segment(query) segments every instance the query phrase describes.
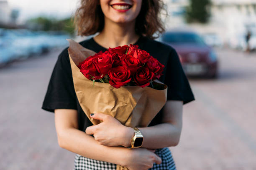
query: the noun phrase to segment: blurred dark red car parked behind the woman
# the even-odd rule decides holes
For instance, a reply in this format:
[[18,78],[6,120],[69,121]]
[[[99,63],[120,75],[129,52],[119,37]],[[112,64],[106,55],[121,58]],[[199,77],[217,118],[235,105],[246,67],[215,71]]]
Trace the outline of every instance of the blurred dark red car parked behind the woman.
[[217,77],[217,55],[197,33],[169,31],[161,35],[160,40],[177,51],[187,76]]

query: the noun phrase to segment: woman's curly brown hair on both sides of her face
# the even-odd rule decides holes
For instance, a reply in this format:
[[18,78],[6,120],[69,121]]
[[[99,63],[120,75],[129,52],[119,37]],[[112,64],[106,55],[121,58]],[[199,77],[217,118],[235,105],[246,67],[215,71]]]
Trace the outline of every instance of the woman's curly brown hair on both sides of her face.
[[[99,0],[80,0],[81,6],[74,16],[78,35],[93,35],[104,27],[104,14]],[[159,37],[165,31],[161,20],[161,11],[165,10],[162,0],[142,0],[141,11],[136,18],[135,31],[151,39]],[[156,36],[153,36],[153,35]]]

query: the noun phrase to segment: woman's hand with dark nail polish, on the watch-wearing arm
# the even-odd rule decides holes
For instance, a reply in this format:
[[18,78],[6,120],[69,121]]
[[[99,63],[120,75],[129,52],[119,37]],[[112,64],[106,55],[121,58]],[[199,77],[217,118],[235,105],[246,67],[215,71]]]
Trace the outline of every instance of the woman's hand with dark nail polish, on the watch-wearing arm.
[[91,117],[103,122],[87,127],[85,133],[93,135],[101,145],[128,147],[131,144],[133,128],[126,127],[115,117],[103,113],[95,113]]

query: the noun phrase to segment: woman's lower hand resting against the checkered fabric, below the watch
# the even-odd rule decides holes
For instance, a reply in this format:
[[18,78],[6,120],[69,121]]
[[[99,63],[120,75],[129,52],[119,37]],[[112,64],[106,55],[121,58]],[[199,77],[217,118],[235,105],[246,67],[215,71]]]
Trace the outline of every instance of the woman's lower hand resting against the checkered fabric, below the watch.
[[148,170],[154,163],[161,164],[161,158],[154,152],[155,150],[146,148],[129,149],[124,166],[129,170]]

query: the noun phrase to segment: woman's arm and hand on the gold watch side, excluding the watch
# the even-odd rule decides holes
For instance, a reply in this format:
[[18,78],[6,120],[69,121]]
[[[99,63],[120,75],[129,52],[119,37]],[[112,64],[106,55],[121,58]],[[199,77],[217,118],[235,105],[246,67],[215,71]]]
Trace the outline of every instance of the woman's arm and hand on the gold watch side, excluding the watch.
[[[159,125],[146,128],[138,128],[144,137],[142,148],[158,149],[176,146],[182,130],[183,101],[168,100],[164,106],[163,120]],[[122,125],[110,115],[96,113],[91,116],[102,120],[98,125],[87,127],[86,133],[94,135],[101,145],[125,147],[131,146],[131,138],[134,135],[133,128]]]

